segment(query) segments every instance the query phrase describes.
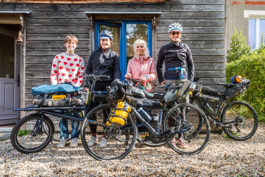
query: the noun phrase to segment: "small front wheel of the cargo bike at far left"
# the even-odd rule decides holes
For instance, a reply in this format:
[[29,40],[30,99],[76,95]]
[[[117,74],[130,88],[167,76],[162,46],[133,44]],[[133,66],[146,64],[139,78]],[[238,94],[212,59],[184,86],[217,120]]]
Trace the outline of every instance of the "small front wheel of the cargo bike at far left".
[[[54,125],[47,116],[44,116],[38,132],[34,135],[41,116],[41,114],[30,114],[15,124],[10,139],[12,146],[17,151],[26,154],[39,152],[51,142]],[[44,131],[44,127],[47,132]]]

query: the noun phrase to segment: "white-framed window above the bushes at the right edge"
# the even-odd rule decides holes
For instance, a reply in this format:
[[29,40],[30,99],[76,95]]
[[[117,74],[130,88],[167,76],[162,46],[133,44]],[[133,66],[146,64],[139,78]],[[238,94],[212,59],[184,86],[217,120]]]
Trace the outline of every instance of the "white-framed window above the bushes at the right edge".
[[259,48],[260,34],[265,32],[265,18],[249,18],[248,44],[251,49]]

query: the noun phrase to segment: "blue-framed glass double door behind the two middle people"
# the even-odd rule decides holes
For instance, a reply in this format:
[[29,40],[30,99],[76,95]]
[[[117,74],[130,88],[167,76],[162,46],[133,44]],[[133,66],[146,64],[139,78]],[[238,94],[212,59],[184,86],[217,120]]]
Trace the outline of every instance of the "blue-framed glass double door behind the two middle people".
[[[124,75],[127,70],[127,61],[132,58],[132,42],[134,42],[138,38],[142,38],[148,43],[148,49],[150,51],[150,56],[152,57],[152,26],[150,20],[98,20],[95,21],[95,50],[97,50],[99,45],[99,33],[103,27],[114,30],[115,34],[113,34],[113,41],[115,37],[119,37],[119,40],[115,41],[115,49],[112,50],[119,54],[120,57],[120,68],[121,68],[121,80],[124,79]],[[138,30],[138,31],[137,31]],[[137,35],[134,35],[134,32]],[[113,32],[112,32],[113,33]],[[116,34],[119,33],[119,34]],[[139,35],[139,33],[141,33]],[[147,37],[146,37],[147,34]],[[132,38],[133,36],[133,38]],[[143,38],[144,36],[144,38]],[[131,40],[130,40],[131,39]],[[134,41],[132,41],[135,39]],[[116,46],[116,45],[119,45]],[[130,51],[130,52],[129,52]],[[129,56],[130,53],[130,56]]]

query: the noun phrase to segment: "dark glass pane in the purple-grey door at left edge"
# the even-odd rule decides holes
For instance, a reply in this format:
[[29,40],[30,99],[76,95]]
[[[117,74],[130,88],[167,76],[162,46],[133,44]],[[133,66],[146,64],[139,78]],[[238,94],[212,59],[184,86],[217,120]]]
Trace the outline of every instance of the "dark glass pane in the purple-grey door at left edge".
[[0,77],[15,77],[15,37],[0,33]]

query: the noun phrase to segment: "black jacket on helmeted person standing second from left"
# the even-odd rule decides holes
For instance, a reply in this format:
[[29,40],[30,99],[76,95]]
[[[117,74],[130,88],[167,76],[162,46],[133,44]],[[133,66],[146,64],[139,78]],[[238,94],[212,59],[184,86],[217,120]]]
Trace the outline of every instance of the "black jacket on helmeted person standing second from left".
[[[111,82],[114,79],[120,79],[121,70],[118,54],[111,51],[110,48],[108,48],[105,52],[100,49],[92,51],[87,63],[86,74],[91,74],[94,71],[98,71],[95,75],[110,76],[109,79],[102,79],[102,82],[97,81],[96,84],[104,84],[106,82]],[[92,81],[89,80],[89,83],[91,84]]]

